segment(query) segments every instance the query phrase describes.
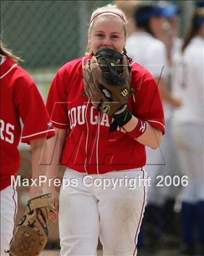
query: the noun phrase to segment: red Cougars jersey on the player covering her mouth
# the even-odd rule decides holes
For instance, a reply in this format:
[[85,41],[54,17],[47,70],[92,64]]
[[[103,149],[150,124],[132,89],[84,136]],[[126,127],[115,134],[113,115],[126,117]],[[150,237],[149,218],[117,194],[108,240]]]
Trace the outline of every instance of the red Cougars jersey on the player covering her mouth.
[[[83,68],[91,55],[66,63],[57,72],[48,93],[47,109],[55,127],[68,129],[61,164],[78,172],[106,173],[145,166],[145,146],[118,128],[109,132],[112,117],[97,111],[84,91]],[[163,106],[156,82],[137,63],[131,63],[128,108],[164,133]]]

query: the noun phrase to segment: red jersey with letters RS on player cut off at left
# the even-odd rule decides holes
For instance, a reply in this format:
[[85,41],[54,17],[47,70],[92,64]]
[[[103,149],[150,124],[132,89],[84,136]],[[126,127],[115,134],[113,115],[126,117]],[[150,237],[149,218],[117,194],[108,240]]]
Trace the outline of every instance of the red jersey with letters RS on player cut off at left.
[[[20,166],[18,143],[54,136],[43,99],[29,74],[9,58],[1,64],[1,190]],[[21,131],[20,118],[24,123]]]

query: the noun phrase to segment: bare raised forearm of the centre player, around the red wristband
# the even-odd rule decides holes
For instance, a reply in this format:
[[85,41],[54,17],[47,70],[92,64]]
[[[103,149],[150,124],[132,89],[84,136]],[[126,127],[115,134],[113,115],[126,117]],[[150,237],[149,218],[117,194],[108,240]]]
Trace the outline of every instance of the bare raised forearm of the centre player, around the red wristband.
[[[138,118],[133,116],[131,120],[126,125],[124,125],[123,128],[127,132],[131,132],[135,129],[137,124]],[[143,132],[143,134],[138,138],[135,138],[135,140],[145,146],[156,149],[161,144],[162,132],[159,129],[152,127],[148,122],[145,122],[145,124],[147,125],[145,132]]]

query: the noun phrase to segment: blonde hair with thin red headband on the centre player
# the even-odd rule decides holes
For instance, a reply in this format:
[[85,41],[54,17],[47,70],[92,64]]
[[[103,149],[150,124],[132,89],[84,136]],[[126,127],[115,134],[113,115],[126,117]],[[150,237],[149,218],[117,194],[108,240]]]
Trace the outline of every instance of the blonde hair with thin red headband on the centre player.
[[[101,17],[102,15],[103,15],[103,17],[114,17],[116,19],[122,20],[124,35],[125,35],[125,37],[127,37],[126,26],[127,26],[128,21],[126,19],[126,15],[124,15],[124,12],[122,12],[122,10],[117,8],[117,6],[115,4],[107,4],[106,6],[99,7],[96,10],[94,10],[94,12],[92,12],[91,22],[89,23],[88,35],[91,34],[91,29],[92,29],[94,22],[96,20],[98,20],[99,17]],[[126,53],[126,49],[123,49],[123,51]],[[90,45],[90,42],[88,42],[87,51],[85,52],[85,55],[88,55],[90,53],[91,53],[91,45]]]

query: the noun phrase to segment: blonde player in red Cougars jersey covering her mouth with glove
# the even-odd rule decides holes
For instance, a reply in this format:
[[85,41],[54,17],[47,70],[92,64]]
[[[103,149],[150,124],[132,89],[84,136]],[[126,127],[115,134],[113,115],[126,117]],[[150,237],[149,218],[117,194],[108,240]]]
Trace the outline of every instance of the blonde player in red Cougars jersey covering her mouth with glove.
[[[82,97],[86,61],[101,48],[125,51],[125,44],[126,18],[122,11],[111,4],[98,8],[92,13],[89,27],[90,54],[66,63],[48,93],[47,109],[57,131],[48,141],[48,148],[52,150],[57,143],[59,149],[52,157],[50,175],[55,177],[62,155],[61,164],[67,166],[64,179],[75,179],[75,184],[61,187],[59,197],[63,256],[96,255],[98,237],[103,255],[137,252],[147,193],[145,184],[138,181],[146,177],[145,145],[157,148],[164,133],[163,106],[156,83],[147,70],[130,63],[135,100],[129,98],[128,108],[133,117],[112,133],[112,118],[97,111],[88,97]],[[136,136],[138,128],[141,133]],[[135,180],[134,189],[129,180]]]

